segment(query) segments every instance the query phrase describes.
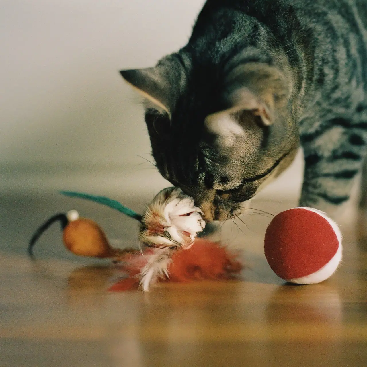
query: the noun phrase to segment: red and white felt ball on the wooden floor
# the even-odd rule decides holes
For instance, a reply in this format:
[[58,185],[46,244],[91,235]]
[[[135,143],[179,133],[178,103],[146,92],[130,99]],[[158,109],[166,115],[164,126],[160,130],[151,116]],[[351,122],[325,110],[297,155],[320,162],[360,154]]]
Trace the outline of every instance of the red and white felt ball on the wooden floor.
[[293,208],[270,222],[264,251],[270,268],[282,279],[319,283],[330,277],[341,261],[341,233],[323,212]]

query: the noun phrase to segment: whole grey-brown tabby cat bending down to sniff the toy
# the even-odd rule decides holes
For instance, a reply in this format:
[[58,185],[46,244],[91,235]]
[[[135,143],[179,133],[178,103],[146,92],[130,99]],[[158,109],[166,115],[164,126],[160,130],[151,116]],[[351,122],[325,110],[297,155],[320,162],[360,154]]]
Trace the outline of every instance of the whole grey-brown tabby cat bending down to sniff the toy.
[[366,0],[208,0],[188,44],[121,75],[161,175],[224,220],[305,155],[300,205],[348,200],[367,140]]

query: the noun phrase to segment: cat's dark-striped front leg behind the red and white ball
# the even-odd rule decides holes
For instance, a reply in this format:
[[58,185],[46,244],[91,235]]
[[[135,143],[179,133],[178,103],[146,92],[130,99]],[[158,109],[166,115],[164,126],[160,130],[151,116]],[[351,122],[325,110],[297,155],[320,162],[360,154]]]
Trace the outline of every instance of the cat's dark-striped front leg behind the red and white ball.
[[305,173],[300,205],[318,208],[331,217],[349,197],[360,172],[366,145],[366,126],[344,118],[301,135]]

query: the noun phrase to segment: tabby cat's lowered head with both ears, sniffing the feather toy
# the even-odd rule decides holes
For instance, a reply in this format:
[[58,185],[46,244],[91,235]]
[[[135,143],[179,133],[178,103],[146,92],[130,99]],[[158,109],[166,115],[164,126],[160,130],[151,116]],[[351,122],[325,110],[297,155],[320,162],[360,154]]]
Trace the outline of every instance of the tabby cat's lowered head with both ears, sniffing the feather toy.
[[146,97],[161,175],[195,199],[206,221],[232,217],[295,156],[291,83],[264,62],[200,64],[185,52],[121,75]]

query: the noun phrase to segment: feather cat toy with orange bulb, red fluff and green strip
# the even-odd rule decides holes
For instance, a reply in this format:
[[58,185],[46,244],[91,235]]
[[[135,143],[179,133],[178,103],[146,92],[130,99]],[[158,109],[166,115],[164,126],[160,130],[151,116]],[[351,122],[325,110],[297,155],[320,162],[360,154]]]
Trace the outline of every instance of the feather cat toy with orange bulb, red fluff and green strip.
[[120,211],[140,222],[140,249],[112,248],[97,223],[72,210],[57,214],[41,225],[29,242],[28,252],[42,233],[59,221],[63,243],[75,255],[111,258],[123,264],[128,278],[116,283],[112,290],[127,290],[140,286],[143,291],[157,281],[188,281],[193,279],[223,279],[238,273],[242,266],[234,254],[219,243],[196,239],[204,227],[203,214],[192,197],[181,189],[161,190],[148,205],[143,215],[124,207],[118,201],[104,196],[62,191],[63,195],[95,201]]

